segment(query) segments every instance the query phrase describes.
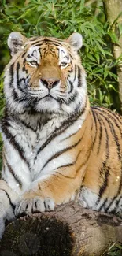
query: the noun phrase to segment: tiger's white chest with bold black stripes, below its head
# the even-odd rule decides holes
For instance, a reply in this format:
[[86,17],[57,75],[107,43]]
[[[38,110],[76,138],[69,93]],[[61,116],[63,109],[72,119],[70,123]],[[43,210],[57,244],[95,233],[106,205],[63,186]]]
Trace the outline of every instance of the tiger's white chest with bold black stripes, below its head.
[[[31,187],[35,180],[53,175],[57,169],[72,166],[79,158],[82,124],[83,118],[72,123],[51,118],[35,128],[10,120],[7,131],[11,139],[6,139],[4,134],[3,139],[6,158],[14,176],[6,166],[2,177],[20,194]],[[20,180],[21,188],[17,180]]]

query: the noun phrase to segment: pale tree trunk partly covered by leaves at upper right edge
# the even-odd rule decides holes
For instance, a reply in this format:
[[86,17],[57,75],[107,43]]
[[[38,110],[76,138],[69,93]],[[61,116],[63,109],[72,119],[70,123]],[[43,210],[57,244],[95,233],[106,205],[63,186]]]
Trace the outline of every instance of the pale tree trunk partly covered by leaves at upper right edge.
[[[112,26],[113,32],[116,33],[119,42],[113,44],[113,54],[117,59],[122,54],[122,35],[120,35],[118,24],[122,24],[122,1],[121,0],[103,0],[105,6],[105,15],[109,24]],[[119,14],[121,13],[120,17]],[[122,58],[120,64],[117,66],[117,75],[119,83],[119,95],[122,112]]]

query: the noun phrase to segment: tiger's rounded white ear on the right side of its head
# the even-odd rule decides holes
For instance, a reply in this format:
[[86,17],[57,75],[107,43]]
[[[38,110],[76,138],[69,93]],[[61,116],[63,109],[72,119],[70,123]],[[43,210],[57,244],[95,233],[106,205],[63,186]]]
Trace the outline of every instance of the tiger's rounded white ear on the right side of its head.
[[68,37],[66,40],[73,48],[74,50],[79,50],[83,46],[83,38],[82,35],[80,35],[77,32],[74,32],[72,35]]

